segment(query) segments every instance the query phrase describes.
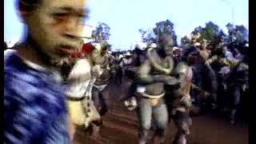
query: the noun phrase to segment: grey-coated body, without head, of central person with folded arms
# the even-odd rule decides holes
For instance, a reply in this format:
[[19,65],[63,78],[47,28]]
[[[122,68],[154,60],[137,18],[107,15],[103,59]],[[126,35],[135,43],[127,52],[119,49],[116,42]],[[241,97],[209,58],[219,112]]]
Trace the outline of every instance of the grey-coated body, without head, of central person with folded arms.
[[[138,87],[136,92],[139,119],[138,137],[140,143],[146,142],[146,137],[151,126],[152,114],[156,126],[154,135],[161,139],[165,137],[168,112],[163,99],[165,94],[164,84],[168,79],[170,82],[172,82],[171,79],[174,79],[169,76],[172,68],[173,59],[170,56],[162,60],[155,49],[148,50],[148,59],[142,64],[138,72]],[[152,101],[157,102],[154,103]]]

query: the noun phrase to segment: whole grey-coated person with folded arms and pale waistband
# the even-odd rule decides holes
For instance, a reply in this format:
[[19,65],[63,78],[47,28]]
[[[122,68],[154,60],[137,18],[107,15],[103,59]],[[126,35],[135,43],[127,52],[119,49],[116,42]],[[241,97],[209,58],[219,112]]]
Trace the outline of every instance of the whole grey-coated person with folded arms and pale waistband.
[[158,38],[158,47],[146,50],[146,60],[138,70],[137,92],[135,94],[138,99],[137,110],[140,122],[139,143],[146,143],[152,116],[154,119],[154,141],[165,141],[168,122],[168,111],[164,98],[165,85],[179,85],[177,78],[171,76],[174,67],[172,54],[172,36],[162,34]]

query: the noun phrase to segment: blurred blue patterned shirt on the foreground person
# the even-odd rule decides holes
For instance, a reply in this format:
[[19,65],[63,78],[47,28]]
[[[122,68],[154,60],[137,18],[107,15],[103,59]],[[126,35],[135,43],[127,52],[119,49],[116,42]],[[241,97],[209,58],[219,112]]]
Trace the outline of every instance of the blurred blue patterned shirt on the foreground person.
[[50,70],[34,69],[15,51],[4,67],[4,142],[66,144],[66,108],[62,87]]

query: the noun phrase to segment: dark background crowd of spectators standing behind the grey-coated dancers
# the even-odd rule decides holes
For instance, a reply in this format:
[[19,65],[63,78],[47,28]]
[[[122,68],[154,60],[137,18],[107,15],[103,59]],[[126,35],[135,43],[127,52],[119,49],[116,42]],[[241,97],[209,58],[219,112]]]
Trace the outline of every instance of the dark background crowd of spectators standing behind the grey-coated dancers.
[[[200,42],[198,40],[200,38],[197,37],[197,34],[192,36],[190,45],[173,47],[174,66],[182,62],[186,50],[192,48],[198,50],[199,57],[192,66],[192,82],[198,86],[198,89],[190,91],[194,105],[200,107],[200,114],[213,110],[219,114],[228,114],[230,111],[229,120],[232,124],[236,122],[238,115],[244,117],[242,120],[246,121],[244,113],[246,113],[246,95],[249,90],[248,43],[225,43],[221,39],[215,43],[207,42],[205,39]],[[145,49],[135,47],[134,50],[113,53],[118,69],[126,70],[130,66],[140,66],[145,61],[146,50],[149,48],[150,46]],[[127,62],[126,59],[130,61]],[[134,70],[130,70],[126,76],[133,79]],[[116,79],[121,81],[118,80],[120,77]],[[207,92],[208,98],[202,98],[200,96],[202,92]]]

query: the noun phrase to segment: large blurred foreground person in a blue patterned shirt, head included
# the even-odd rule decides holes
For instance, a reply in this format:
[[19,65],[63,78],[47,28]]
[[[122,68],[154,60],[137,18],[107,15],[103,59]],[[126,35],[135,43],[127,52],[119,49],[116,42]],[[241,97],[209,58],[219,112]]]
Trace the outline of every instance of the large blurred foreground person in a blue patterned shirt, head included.
[[80,48],[85,0],[18,0],[25,41],[5,51],[5,143],[70,143],[56,63]]

